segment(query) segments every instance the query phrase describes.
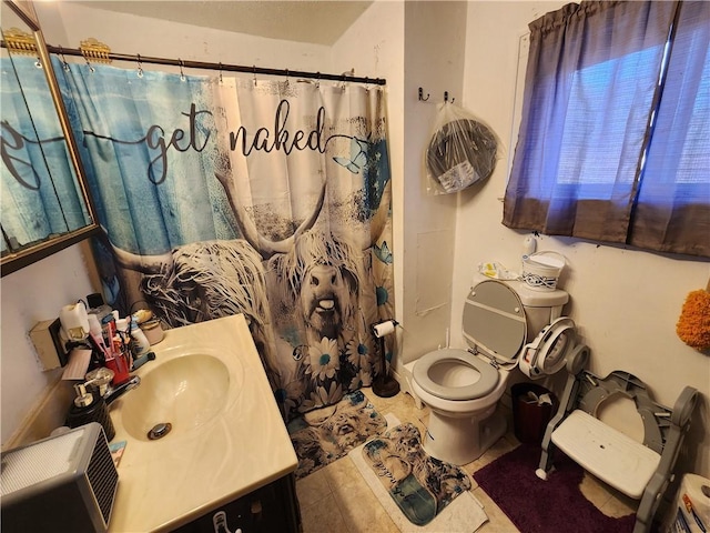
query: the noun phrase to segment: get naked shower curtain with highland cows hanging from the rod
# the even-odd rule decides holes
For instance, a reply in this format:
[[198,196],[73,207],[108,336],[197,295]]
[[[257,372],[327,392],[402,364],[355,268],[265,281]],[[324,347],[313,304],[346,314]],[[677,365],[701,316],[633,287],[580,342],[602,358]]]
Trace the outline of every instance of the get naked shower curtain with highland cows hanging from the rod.
[[384,90],[55,67],[109,303],[243,313],[285,420],[369,385],[394,318]]

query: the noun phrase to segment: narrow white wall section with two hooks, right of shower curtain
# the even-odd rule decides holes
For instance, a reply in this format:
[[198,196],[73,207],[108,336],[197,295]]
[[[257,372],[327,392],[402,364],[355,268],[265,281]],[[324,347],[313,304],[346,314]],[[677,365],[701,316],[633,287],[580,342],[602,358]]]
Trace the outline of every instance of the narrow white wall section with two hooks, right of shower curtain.
[[[466,2],[406,2],[404,242],[402,260],[404,342],[399,363],[446,343],[450,320],[456,195],[428,195],[424,153],[444,92],[460,98]],[[418,88],[429,95],[419,101]]]

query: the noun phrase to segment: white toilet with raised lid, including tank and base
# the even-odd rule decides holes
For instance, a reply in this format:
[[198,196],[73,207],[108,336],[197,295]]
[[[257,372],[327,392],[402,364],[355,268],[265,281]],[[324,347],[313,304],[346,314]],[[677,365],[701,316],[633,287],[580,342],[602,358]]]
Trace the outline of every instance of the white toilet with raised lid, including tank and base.
[[506,432],[496,413],[508,376],[529,339],[561,314],[569,295],[534,290],[521,281],[485,279],[468,293],[463,333],[467,350],[428,352],[406,366],[415,400],[430,409],[424,449],[442,461],[466,464]]

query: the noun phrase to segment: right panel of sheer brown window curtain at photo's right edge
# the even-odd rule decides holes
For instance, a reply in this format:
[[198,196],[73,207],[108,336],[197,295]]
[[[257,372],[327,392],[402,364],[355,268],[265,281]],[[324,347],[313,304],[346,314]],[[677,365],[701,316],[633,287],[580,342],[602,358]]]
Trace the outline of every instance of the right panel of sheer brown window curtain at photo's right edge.
[[630,243],[710,257],[710,2],[682,2]]

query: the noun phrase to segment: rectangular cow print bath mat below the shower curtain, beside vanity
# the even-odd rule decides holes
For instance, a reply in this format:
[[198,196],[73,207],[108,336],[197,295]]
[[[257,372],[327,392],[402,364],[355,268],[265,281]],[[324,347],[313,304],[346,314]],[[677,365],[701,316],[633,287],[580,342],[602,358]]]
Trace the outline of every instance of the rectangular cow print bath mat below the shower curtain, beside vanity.
[[362,391],[355,391],[335,405],[292,420],[287,428],[298,456],[300,480],[384,432],[387,421]]

